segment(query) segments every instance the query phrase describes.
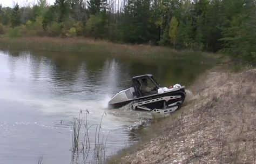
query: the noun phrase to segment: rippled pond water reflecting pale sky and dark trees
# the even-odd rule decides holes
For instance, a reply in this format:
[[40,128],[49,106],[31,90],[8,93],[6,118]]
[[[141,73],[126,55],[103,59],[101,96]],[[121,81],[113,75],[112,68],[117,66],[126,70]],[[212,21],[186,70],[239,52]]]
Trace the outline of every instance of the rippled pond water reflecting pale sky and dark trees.
[[[204,64],[200,64],[204,60]],[[151,118],[129,107],[107,110],[114,93],[131,85],[131,77],[151,73],[163,85],[191,84],[210,66],[206,58],[113,57],[111,54],[0,51],[0,161],[2,163],[70,163],[72,124],[89,110],[89,125],[99,124],[107,137],[106,156],[134,144],[129,128]],[[95,142],[95,129],[89,131]],[[83,131],[84,133],[84,131]],[[93,145],[93,144],[92,144]],[[87,160],[92,160],[89,153]],[[0,162],[0,163],[1,163]]]

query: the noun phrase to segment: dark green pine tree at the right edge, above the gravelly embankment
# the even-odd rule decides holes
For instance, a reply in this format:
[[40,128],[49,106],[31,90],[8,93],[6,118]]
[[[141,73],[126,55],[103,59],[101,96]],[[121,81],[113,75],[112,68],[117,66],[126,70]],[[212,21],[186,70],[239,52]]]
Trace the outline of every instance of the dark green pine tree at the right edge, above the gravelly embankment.
[[232,13],[227,15],[226,24],[223,27],[223,38],[220,39],[224,41],[222,52],[232,54],[235,59],[255,61],[256,31],[255,26],[251,24],[251,20],[255,19],[253,2],[234,0],[225,12],[228,11]]

